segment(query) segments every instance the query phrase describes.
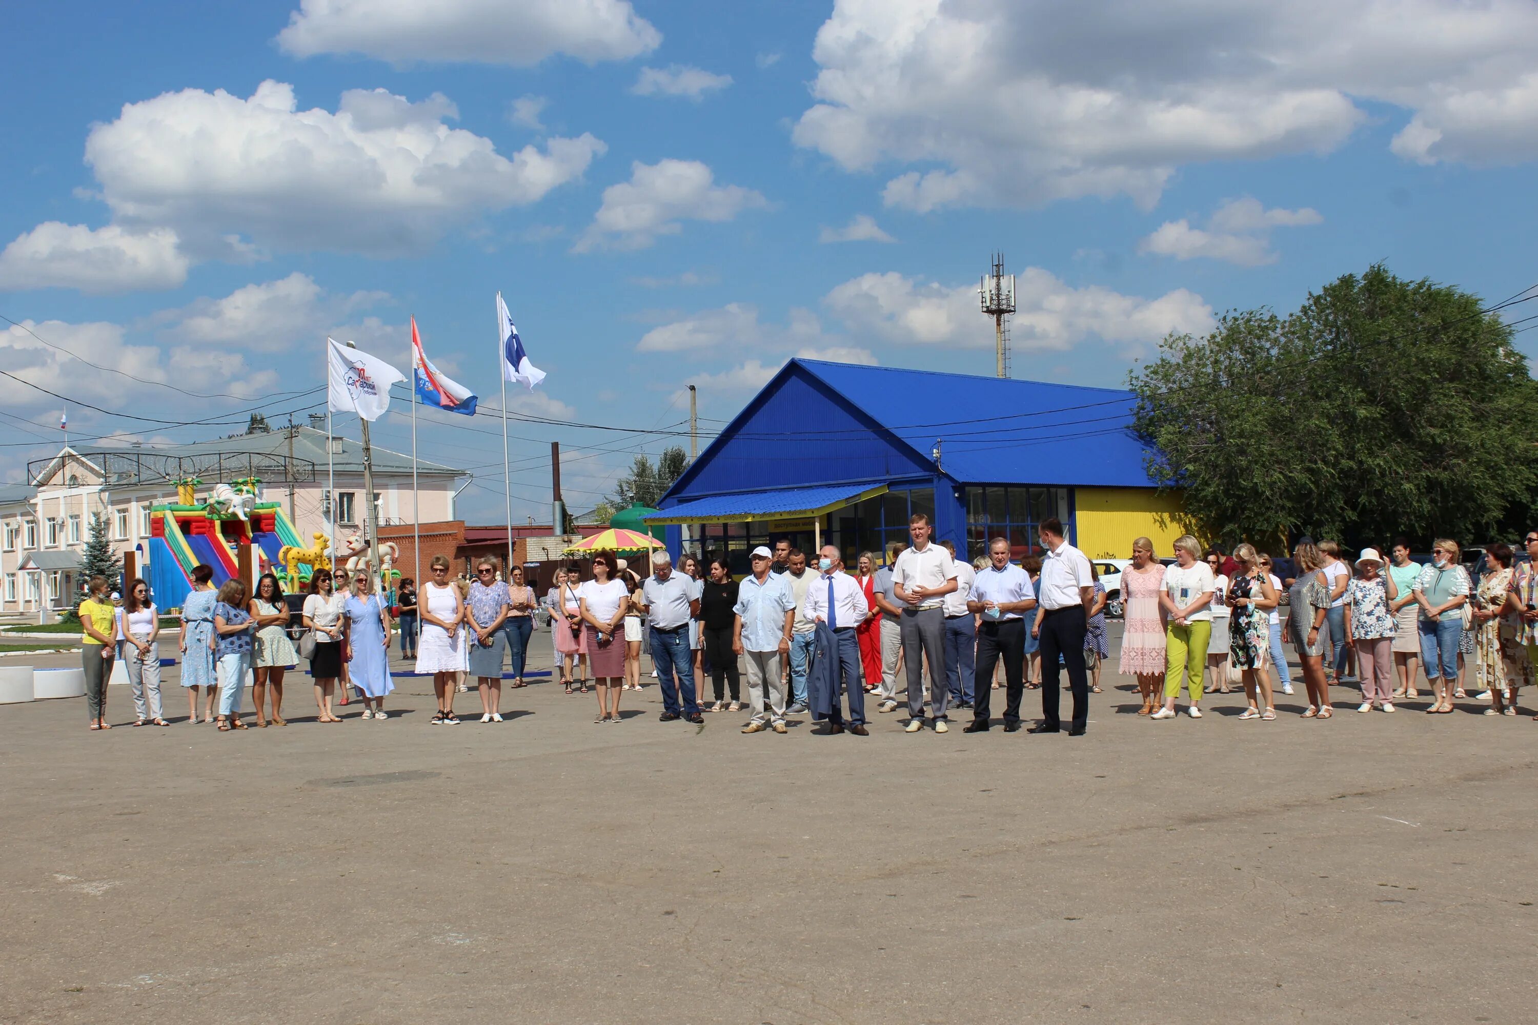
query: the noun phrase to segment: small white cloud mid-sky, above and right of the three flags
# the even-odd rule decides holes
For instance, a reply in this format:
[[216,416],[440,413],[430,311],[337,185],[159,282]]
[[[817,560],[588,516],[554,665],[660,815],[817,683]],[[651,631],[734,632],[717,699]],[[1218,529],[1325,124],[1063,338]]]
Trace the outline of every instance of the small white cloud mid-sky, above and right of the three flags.
[[603,204],[575,250],[597,247],[644,249],[658,235],[677,235],[680,221],[729,221],[749,207],[767,206],[758,192],[741,186],[717,186],[711,169],[698,160],[635,161],[631,180],[603,191]]

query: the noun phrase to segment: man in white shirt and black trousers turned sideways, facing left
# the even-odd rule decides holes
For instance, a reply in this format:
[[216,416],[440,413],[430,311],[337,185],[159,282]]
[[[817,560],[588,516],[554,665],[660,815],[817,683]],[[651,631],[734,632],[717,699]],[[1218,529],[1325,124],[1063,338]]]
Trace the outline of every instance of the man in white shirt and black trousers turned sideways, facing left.
[[1032,636],[1041,638],[1041,722],[1027,733],[1060,733],[1058,721],[1058,655],[1067,665],[1067,682],[1074,690],[1074,721],[1069,736],[1084,736],[1089,725],[1089,675],[1084,670],[1084,632],[1089,610],[1095,604],[1095,578],[1089,559],[1063,536],[1057,516],[1041,521],[1041,578],[1037,581],[1037,625]]

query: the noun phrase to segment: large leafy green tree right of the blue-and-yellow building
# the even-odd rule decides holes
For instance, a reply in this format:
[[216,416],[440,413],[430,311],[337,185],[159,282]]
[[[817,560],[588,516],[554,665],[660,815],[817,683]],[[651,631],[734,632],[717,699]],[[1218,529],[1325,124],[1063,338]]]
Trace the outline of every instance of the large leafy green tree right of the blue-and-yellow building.
[[1150,473],[1209,541],[1481,541],[1538,492],[1538,384],[1478,297],[1381,264],[1224,315],[1132,373]]

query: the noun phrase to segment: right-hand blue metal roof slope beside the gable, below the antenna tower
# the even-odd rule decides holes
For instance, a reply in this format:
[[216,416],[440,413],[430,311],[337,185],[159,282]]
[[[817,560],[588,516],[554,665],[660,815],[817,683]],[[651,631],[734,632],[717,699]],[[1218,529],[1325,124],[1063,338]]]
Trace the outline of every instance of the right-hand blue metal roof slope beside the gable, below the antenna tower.
[[[1154,487],[1126,389],[794,360],[960,484]],[[787,438],[794,440],[794,438]]]

